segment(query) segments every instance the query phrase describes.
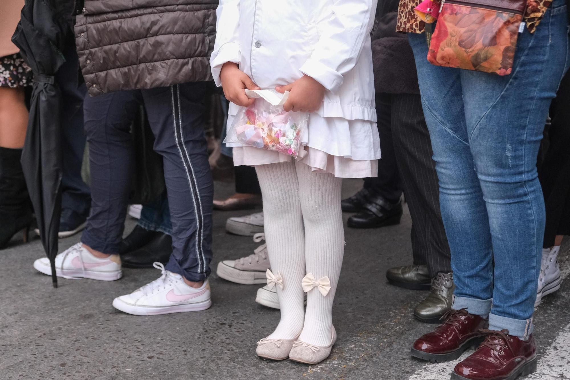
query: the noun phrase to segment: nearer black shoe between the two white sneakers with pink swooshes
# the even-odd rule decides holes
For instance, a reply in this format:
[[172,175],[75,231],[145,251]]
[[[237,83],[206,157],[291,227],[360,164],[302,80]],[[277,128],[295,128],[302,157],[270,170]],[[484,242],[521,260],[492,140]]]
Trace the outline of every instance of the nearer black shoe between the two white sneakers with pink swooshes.
[[165,264],[172,253],[172,237],[158,232],[160,236],[153,238],[147,245],[121,254],[121,263],[124,268],[152,268],[155,261]]

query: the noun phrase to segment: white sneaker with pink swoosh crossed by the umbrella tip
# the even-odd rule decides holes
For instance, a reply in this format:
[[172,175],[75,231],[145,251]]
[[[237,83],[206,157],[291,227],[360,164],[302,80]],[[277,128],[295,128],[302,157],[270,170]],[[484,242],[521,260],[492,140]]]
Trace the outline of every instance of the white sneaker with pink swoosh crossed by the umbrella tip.
[[[51,276],[50,260],[46,257],[34,261],[34,268]],[[123,270],[118,254],[112,254],[108,258],[95,257],[79,242],[55,257],[55,274],[73,280],[91,278],[114,281],[123,276]]]

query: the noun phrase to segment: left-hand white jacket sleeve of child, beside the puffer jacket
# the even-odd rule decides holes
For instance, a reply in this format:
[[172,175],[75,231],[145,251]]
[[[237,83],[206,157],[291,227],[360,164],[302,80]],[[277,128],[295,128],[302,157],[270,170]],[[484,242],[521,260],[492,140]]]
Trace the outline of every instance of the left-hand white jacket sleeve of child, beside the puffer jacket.
[[238,63],[241,60],[239,50],[239,1],[220,0],[217,14],[217,34],[214,51],[210,57],[210,66],[214,82],[221,86],[219,73],[226,62]]

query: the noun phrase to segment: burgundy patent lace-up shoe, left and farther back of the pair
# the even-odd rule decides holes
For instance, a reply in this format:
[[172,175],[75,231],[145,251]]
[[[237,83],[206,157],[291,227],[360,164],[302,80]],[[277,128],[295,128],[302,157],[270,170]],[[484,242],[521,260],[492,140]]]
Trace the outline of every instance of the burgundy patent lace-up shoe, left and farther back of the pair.
[[488,321],[467,310],[449,310],[441,317],[442,325],[414,342],[413,357],[430,362],[446,362],[457,359],[469,347],[477,347],[484,339],[480,329],[488,327]]

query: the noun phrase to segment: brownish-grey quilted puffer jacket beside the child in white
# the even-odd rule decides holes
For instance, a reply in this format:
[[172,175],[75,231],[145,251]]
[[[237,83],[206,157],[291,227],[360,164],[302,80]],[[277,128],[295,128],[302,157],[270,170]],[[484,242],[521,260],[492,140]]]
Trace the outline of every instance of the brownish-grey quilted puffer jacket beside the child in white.
[[86,0],[75,24],[89,94],[211,80],[218,0]]

